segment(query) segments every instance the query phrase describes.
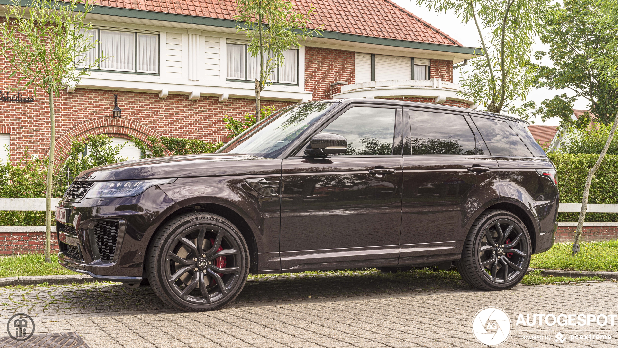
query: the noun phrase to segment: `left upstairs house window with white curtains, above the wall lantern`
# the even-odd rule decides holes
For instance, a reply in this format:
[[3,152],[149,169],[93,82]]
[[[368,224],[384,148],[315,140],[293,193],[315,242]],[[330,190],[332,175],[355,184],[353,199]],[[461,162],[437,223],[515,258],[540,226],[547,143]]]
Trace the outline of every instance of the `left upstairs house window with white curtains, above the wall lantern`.
[[99,44],[85,54],[88,60],[105,57],[98,66],[100,70],[159,73],[159,35],[124,30],[87,30],[90,40]]

